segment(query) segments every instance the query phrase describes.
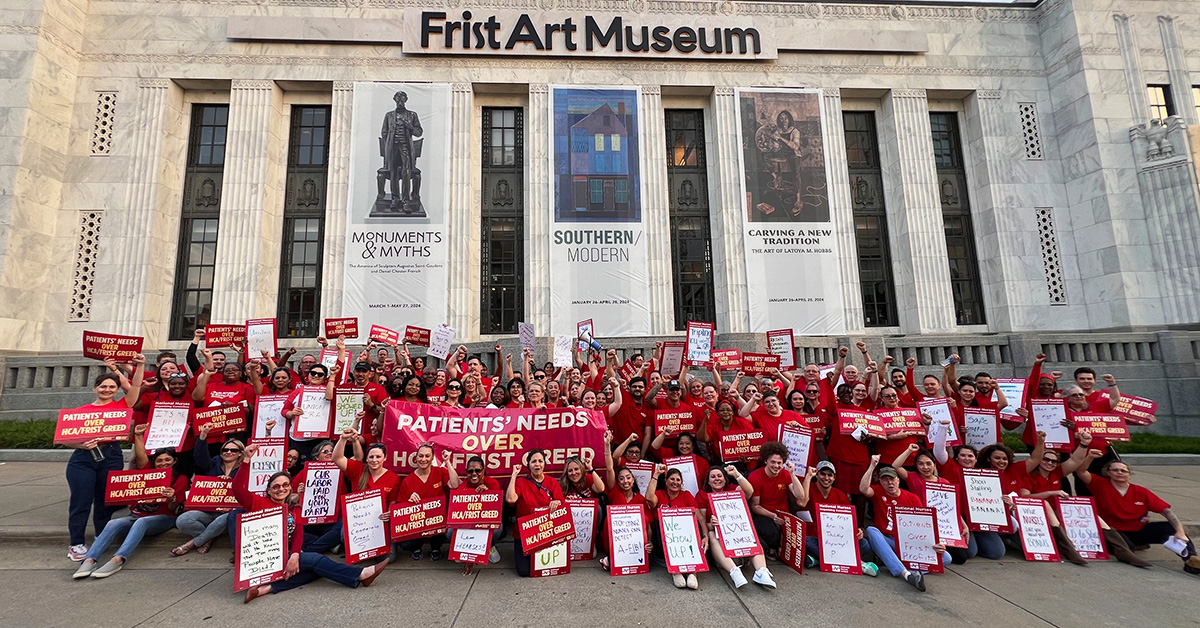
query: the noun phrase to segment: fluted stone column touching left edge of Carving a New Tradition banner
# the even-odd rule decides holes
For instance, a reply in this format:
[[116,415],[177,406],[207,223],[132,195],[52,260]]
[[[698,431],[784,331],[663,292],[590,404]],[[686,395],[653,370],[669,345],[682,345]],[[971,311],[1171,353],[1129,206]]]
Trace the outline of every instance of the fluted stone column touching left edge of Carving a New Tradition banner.
[[742,215],[746,210],[742,196],[742,146],[738,144],[738,100],[733,88],[713,92],[713,132],[708,143],[708,178],[712,181],[713,287],[716,291],[718,334],[750,331],[746,292],[745,246]]

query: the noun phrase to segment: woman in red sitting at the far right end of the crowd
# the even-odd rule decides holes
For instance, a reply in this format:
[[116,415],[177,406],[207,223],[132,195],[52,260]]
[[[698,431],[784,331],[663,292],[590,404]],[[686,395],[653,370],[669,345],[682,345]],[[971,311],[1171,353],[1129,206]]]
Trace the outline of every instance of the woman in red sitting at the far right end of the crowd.
[[[1091,444],[1091,435],[1080,433],[1084,447]],[[1088,449],[1088,457],[1100,457],[1102,451]],[[1130,548],[1138,545],[1162,544],[1169,540],[1183,544],[1183,570],[1200,575],[1200,557],[1195,545],[1183,530],[1180,518],[1171,512],[1171,504],[1163,501],[1153,491],[1129,482],[1133,472],[1129,465],[1114,460],[1099,474],[1080,469],[1076,477],[1091,490],[1096,500],[1096,510],[1100,519],[1116,530]],[[1150,513],[1163,515],[1166,521],[1151,521]]]

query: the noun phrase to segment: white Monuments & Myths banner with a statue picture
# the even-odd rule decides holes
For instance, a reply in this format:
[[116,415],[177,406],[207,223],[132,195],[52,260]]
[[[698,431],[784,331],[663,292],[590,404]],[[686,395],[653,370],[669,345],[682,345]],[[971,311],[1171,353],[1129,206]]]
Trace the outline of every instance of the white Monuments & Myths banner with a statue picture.
[[352,116],[341,315],[433,328],[449,292],[450,85],[355,83]]

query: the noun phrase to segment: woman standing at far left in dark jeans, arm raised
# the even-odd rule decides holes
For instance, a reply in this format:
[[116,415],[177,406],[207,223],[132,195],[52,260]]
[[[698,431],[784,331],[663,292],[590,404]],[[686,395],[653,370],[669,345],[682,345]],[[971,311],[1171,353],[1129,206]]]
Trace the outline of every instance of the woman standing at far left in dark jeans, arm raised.
[[[133,382],[124,382],[116,363],[104,360],[109,372],[101,375],[92,383],[92,393],[96,399],[84,408],[94,412],[109,409],[131,409],[138,402],[142,393],[142,378],[145,375],[145,355],[140,353],[133,357]],[[125,399],[116,399],[116,391],[125,389]],[[128,432],[125,432],[128,435]],[[98,537],[108,521],[113,518],[114,508],[104,504],[107,492],[108,472],[120,471],[125,465],[121,454],[121,445],[116,441],[104,441],[92,438],[83,443],[67,444],[74,449],[67,461],[66,476],[67,488],[71,497],[67,502],[67,530],[71,534],[67,557],[72,561],[83,561],[88,555],[88,546],[83,544],[84,532],[88,528],[88,513],[91,512],[91,522]]]

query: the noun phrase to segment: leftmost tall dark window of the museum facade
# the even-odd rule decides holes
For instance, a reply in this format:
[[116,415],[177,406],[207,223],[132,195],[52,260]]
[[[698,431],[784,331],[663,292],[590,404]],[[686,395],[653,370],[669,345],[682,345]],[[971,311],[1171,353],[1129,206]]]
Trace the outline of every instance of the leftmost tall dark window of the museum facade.
[[192,106],[170,309],[172,340],[190,339],[196,328],[211,322],[228,121],[228,104]]

